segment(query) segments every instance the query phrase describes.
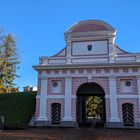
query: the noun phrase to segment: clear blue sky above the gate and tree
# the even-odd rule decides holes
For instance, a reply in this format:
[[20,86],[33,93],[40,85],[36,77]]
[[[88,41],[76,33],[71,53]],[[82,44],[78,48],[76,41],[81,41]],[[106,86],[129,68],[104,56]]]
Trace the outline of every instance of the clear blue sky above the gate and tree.
[[75,22],[104,20],[117,29],[116,44],[140,52],[139,0],[0,0],[0,28],[15,36],[20,69],[17,86],[36,86],[39,56],[65,47],[63,33]]

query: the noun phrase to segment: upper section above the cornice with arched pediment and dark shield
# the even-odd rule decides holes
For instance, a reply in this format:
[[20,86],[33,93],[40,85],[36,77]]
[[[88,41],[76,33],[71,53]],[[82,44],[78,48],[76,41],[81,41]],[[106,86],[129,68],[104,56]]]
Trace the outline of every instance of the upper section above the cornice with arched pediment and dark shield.
[[65,32],[66,47],[40,65],[78,65],[140,62],[140,54],[115,45],[116,30],[99,20],[81,21]]

